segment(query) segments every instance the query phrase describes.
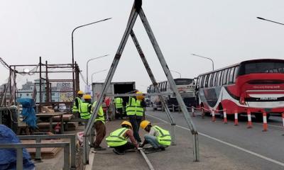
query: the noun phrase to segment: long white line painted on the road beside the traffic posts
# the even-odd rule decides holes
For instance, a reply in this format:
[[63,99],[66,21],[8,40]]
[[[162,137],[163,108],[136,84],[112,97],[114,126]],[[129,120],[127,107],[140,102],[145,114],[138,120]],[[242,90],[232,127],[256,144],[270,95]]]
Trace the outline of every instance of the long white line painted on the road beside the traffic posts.
[[[146,114],[146,115],[148,115],[148,114]],[[157,117],[155,117],[155,116],[153,116],[153,115],[148,115],[148,116],[150,116],[150,117],[152,117],[152,118],[155,118],[155,119],[158,119],[158,120],[161,120],[161,121],[163,121],[164,123],[168,123],[167,121],[165,121],[165,120],[163,120],[163,119],[160,119],[160,118],[157,118]],[[177,126],[178,128],[182,128],[182,129],[184,129],[184,130],[189,130],[189,131],[190,131],[189,128],[185,128],[185,127],[182,127],[182,126],[180,126],[180,125],[176,125],[176,126]],[[239,150],[241,150],[241,151],[243,151],[243,152],[252,154],[252,155],[254,155],[254,156],[256,156],[256,157],[259,157],[259,158],[261,158],[261,159],[265,159],[265,160],[268,161],[268,162],[273,162],[274,164],[278,164],[278,165],[284,167],[284,163],[283,163],[283,162],[278,162],[278,161],[276,161],[276,160],[274,160],[274,159],[265,157],[265,156],[263,156],[263,155],[261,155],[261,154],[257,154],[256,152],[252,152],[252,151],[250,151],[250,150],[248,150],[248,149],[244,149],[244,148],[242,148],[242,147],[238,147],[238,146],[236,146],[236,145],[233,145],[233,144],[231,144],[231,143],[229,143],[229,142],[224,142],[223,140],[219,140],[219,139],[217,139],[217,138],[215,138],[215,137],[206,135],[206,134],[204,134],[204,133],[202,133],[202,132],[198,132],[198,134],[200,134],[200,135],[202,135],[202,136],[204,136],[204,137],[208,137],[209,139],[215,140],[215,141],[217,141],[217,142],[220,142],[220,143],[222,143],[222,144],[224,144],[224,145],[228,145],[229,147],[234,147],[234,148],[239,149]]]

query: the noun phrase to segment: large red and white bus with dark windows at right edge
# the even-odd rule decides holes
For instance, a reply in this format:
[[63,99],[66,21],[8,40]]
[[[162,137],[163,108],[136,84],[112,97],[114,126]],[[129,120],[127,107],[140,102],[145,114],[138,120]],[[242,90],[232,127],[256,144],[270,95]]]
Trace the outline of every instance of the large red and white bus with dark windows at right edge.
[[[284,113],[284,60],[248,60],[197,77],[197,102],[208,110],[246,113],[262,120]],[[222,111],[219,112],[222,115]]]

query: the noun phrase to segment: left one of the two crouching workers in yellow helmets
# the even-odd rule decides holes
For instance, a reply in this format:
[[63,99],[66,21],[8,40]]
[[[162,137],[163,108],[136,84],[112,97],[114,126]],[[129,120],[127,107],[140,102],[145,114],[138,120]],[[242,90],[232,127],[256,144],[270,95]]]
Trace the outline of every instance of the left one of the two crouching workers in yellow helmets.
[[[128,138],[131,142],[127,141]],[[128,149],[138,149],[138,143],[133,137],[132,125],[129,121],[124,121],[121,123],[121,128],[111,132],[109,137],[107,137],[107,145],[113,147],[113,151],[116,154],[125,154],[125,151]]]

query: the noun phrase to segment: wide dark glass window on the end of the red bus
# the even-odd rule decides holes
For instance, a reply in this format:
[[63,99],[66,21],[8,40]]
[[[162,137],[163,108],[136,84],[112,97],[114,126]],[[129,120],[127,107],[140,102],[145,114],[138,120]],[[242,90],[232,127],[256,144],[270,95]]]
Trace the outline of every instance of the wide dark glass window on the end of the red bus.
[[284,73],[284,62],[251,62],[241,64],[239,75],[253,73]]

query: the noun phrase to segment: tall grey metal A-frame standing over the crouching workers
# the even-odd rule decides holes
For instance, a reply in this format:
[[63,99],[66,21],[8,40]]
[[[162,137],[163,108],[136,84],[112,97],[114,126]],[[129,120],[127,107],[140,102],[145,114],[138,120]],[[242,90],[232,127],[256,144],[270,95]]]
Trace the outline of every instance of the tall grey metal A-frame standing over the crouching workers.
[[[94,111],[92,113],[92,116],[89,119],[87,127],[84,130],[84,149],[83,149],[84,155],[83,155],[83,157],[84,157],[84,163],[86,163],[86,164],[89,162],[89,158],[88,158],[89,157],[89,145],[88,145],[89,141],[88,141],[88,138],[89,138],[92,126],[94,125],[94,119],[97,118],[97,114],[99,112],[99,106],[102,105],[103,98],[104,98],[104,96],[107,92],[107,89],[109,88],[109,84],[111,83],[112,78],[114,77],[114,72],[116,71],[116,67],[119,64],[119,60],[121,59],[121,55],[122,55],[122,52],[124,51],[124,47],[126,45],[126,42],[129,39],[129,35],[131,35],[131,38],[132,38],[134,44],[136,45],[136,49],[138,50],[138,53],[141,57],[141,60],[144,64],[144,66],[146,67],[146,70],[148,72],[149,77],[151,78],[153,86],[155,86],[156,91],[158,91],[160,101],[162,102],[163,108],[165,108],[165,113],[166,113],[168,119],[170,120],[170,125],[172,127],[171,135],[173,137],[173,145],[175,145],[175,121],[174,121],[172,115],[170,114],[170,110],[169,110],[167,104],[165,103],[163,96],[161,96],[161,94],[160,94],[160,89],[158,89],[157,81],[155,81],[155,77],[153,76],[153,72],[151,71],[149,64],[146,60],[146,57],[143,54],[143,51],[141,49],[141,46],[138,43],[136,35],[134,34],[134,32],[132,30],[138,15],[141,18],[143,26],[146,29],[146,32],[148,34],[149,39],[151,40],[151,43],[152,43],[153,48],[155,50],[155,53],[158,57],[158,60],[160,61],[160,64],[163,68],[163,71],[165,72],[165,76],[168,79],[168,82],[170,84],[170,88],[173,90],[173,93],[175,94],[175,97],[177,98],[177,101],[180,105],[181,111],[185,116],[185,120],[187,121],[187,125],[189,126],[190,131],[193,135],[194,161],[195,162],[199,161],[200,154],[199,154],[198,132],[195,128],[195,125],[192,123],[192,119],[190,118],[190,114],[187,111],[187,107],[185,106],[185,103],[182,100],[182,96],[180,96],[180,93],[178,92],[178,89],[177,89],[177,86],[175,85],[175,81],[173,79],[173,76],[170,73],[170,69],[168,68],[167,63],[165,62],[165,58],[163,57],[163,53],[160,50],[160,47],[158,45],[157,40],[155,40],[155,36],[153,34],[153,31],[151,30],[150,24],[148,23],[148,20],[145,16],[145,13],[144,13],[143,8],[141,6],[142,6],[142,0],[135,0],[134,1],[133,7],[132,7],[132,10],[131,10],[131,14],[129,16],[129,22],[127,23],[126,30],[124,32],[124,36],[121,39],[121,43],[120,43],[119,48],[116,52],[114,60],[111,64],[111,68],[109,69],[109,73],[107,74],[107,79],[104,81],[104,86],[102,88],[102,94],[99,96],[99,100],[97,101],[97,104],[94,107]],[[137,95],[136,94],[129,94],[129,96],[137,96]]]

